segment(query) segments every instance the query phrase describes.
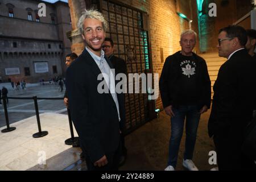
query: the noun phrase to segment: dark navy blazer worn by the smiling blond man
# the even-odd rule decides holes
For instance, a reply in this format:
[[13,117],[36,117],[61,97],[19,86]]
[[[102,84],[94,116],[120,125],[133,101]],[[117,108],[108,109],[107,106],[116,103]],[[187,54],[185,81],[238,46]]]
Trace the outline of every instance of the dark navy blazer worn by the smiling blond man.
[[[106,61],[112,67],[110,61]],[[121,121],[111,93],[100,94],[98,65],[84,49],[67,69],[68,104],[72,121],[79,134],[82,150],[92,163],[117,150],[119,130],[125,123],[123,94],[117,94]]]

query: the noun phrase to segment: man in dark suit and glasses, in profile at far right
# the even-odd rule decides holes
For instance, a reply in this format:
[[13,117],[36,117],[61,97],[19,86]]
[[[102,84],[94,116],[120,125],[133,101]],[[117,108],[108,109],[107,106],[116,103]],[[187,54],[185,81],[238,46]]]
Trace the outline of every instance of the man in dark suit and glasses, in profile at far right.
[[241,152],[243,132],[252,117],[256,81],[246,42],[246,31],[240,26],[228,26],[219,31],[218,55],[228,60],[221,65],[213,86],[208,122],[219,170],[250,169],[253,165]]

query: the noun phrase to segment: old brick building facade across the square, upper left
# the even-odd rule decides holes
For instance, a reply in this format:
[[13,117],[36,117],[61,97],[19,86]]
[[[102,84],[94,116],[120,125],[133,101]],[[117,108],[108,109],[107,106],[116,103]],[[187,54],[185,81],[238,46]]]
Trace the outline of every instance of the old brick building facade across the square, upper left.
[[[46,17],[38,4],[46,4]],[[38,82],[62,76],[64,55],[71,52],[68,3],[0,1],[0,76],[2,81]]]

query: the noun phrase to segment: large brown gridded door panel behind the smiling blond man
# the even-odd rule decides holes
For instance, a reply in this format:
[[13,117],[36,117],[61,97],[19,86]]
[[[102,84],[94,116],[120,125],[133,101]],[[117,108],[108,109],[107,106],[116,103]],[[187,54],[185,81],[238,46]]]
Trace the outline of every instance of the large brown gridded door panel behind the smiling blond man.
[[[113,39],[115,55],[126,61],[127,73],[140,75],[147,72],[150,69],[150,53],[148,32],[143,30],[144,12],[113,1],[100,1],[100,10],[109,22],[106,37]],[[139,93],[125,94],[125,133],[129,133],[149,121],[148,95],[142,93],[141,79],[139,82]],[[133,88],[134,86],[133,83]]]

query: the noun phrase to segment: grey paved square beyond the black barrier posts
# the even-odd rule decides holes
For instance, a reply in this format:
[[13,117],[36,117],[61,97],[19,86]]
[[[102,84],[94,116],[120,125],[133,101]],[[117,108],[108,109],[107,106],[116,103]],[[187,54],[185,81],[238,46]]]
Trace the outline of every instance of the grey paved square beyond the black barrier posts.
[[[31,100],[9,99],[7,110],[9,122],[14,123],[35,115],[35,105],[33,96],[37,97],[63,97],[63,92],[59,91],[58,85],[27,84],[26,89],[13,90],[10,83],[0,84],[0,88],[5,86],[8,89],[8,97],[31,97]],[[39,113],[61,113],[66,114],[67,109],[63,100],[38,100]],[[5,112],[3,105],[0,105],[0,127],[6,125]]]

